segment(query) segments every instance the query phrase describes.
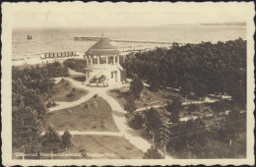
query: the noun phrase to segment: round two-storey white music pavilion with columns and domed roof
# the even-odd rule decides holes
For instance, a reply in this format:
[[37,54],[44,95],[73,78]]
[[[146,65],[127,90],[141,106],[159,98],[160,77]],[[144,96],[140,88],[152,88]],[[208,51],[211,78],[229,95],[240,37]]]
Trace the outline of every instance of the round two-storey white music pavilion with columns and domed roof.
[[86,84],[112,85],[121,83],[121,71],[119,64],[120,51],[110,43],[110,39],[102,37],[86,53],[87,60]]

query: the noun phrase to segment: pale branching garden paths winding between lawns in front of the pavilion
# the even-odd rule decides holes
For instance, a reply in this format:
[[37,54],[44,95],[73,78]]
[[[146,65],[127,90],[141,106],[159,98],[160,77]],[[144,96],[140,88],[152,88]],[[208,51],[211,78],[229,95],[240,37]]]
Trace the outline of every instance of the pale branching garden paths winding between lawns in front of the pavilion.
[[[102,135],[102,136],[119,136],[124,137],[128,141],[130,141],[134,146],[141,149],[143,152],[146,152],[150,147],[151,143],[147,139],[143,139],[140,137],[140,132],[135,131],[131,129],[126,121],[125,113],[126,111],[121,107],[121,105],[111,96],[109,96],[106,91],[108,89],[117,88],[121,85],[114,85],[114,86],[107,86],[107,87],[92,87],[87,86],[85,84],[82,84],[80,82],[77,82],[73,79],[65,78],[65,80],[71,82],[74,86],[77,86],[79,88],[87,89],[89,90],[89,93],[83,97],[81,97],[77,101],[73,102],[56,102],[58,105],[56,107],[52,107],[49,109],[48,112],[61,110],[64,108],[73,107],[76,105],[79,105],[80,103],[86,102],[90,98],[92,98],[94,95],[98,95],[105,99],[108,104],[110,105],[112,109],[112,117],[116,124],[116,127],[119,130],[119,133],[112,133],[112,132],[70,132],[71,135]],[[59,134],[63,134],[63,132],[58,132]],[[168,155],[165,155],[165,158],[169,159],[171,158]]]

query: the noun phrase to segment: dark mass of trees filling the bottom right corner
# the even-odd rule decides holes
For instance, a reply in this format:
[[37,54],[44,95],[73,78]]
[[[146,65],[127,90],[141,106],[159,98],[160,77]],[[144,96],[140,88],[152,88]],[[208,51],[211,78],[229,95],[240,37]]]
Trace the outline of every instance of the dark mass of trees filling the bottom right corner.
[[245,157],[245,117],[234,110],[210,127],[199,118],[175,124],[169,128],[166,149],[180,158]]

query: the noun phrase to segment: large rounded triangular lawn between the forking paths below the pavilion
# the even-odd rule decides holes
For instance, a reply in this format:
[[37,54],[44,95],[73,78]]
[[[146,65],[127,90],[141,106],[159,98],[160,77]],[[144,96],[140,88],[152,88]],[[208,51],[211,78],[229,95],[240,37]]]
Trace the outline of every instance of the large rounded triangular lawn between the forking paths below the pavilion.
[[57,131],[118,131],[109,104],[100,97],[93,97],[80,105],[48,113],[47,123]]

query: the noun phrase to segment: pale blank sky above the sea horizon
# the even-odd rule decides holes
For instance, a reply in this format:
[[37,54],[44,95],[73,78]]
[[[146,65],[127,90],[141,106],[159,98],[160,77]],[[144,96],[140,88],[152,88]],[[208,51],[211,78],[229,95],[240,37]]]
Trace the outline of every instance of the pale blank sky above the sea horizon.
[[246,22],[247,3],[22,3],[13,28],[150,27]]

